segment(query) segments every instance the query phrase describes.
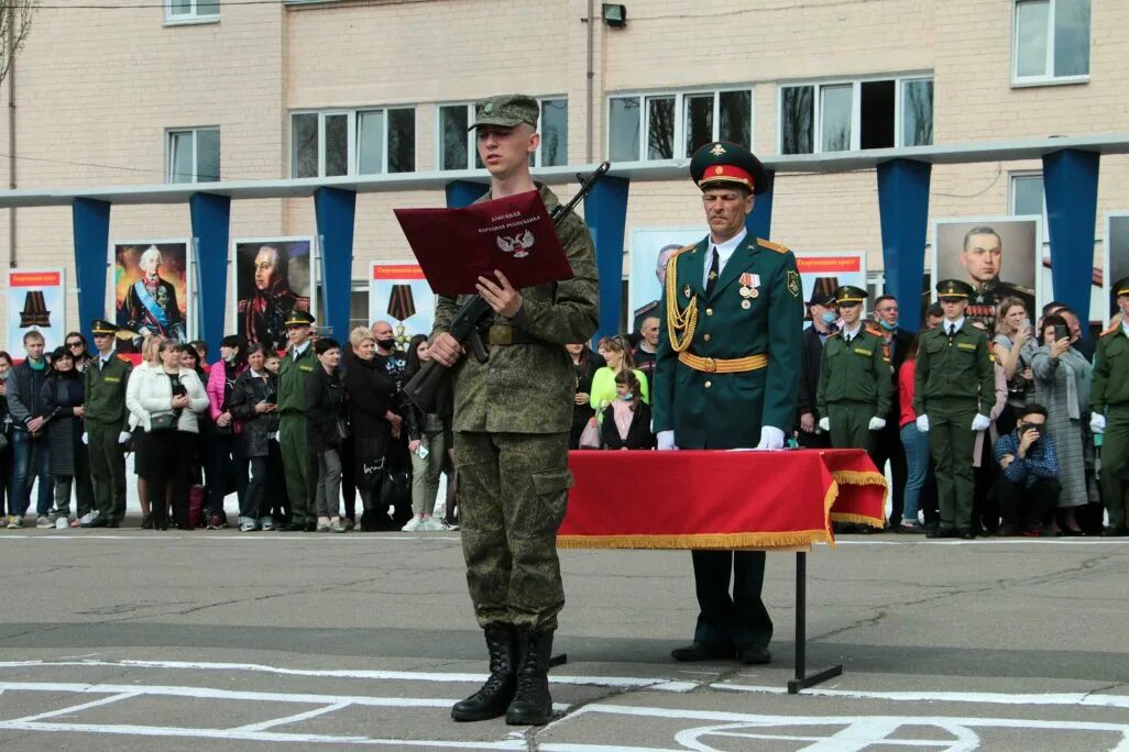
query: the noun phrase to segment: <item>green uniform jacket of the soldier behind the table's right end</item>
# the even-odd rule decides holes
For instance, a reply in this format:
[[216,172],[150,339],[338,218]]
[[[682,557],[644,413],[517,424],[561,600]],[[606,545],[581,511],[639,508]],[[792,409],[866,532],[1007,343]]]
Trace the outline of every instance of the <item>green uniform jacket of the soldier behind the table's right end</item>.
[[882,337],[860,326],[848,344],[842,333],[828,337],[815,391],[819,417],[828,417],[828,405],[867,405],[872,415],[884,418],[890,412],[893,382]]

